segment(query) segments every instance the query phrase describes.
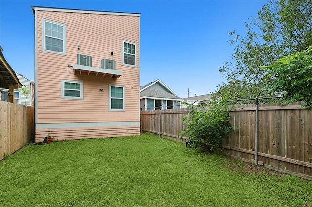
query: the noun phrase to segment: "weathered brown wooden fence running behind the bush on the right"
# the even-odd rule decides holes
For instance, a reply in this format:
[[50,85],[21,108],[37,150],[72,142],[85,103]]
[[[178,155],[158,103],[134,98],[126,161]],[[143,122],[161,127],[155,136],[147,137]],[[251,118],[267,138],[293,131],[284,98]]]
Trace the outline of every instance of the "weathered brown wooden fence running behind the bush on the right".
[[[177,141],[190,109],[141,111],[141,130]],[[244,161],[255,159],[255,104],[235,105],[231,124],[238,129],[222,147]],[[160,131],[159,131],[160,129]],[[258,163],[267,168],[312,179],[312,110],[300,103],[258,105]]]

